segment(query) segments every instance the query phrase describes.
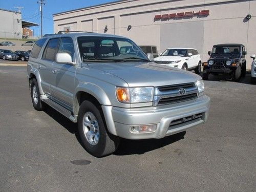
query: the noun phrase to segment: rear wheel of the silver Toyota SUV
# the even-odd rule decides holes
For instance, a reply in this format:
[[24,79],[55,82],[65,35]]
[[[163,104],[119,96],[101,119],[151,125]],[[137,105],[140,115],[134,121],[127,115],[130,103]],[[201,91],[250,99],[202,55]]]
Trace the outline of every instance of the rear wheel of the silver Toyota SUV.
[[45,103],[40,100],[40,93],[36,79],[32,79],[30,93],[34,109],[36,111],[44,110]]

